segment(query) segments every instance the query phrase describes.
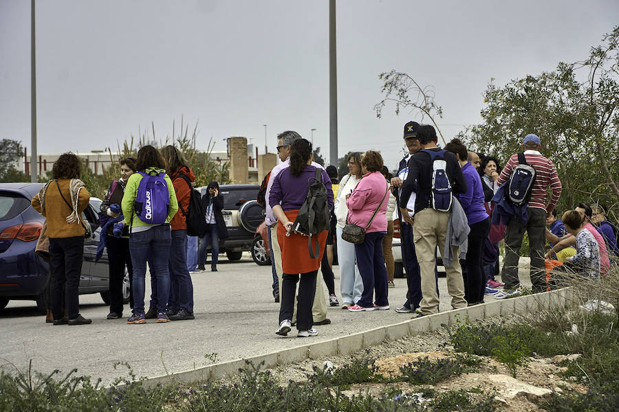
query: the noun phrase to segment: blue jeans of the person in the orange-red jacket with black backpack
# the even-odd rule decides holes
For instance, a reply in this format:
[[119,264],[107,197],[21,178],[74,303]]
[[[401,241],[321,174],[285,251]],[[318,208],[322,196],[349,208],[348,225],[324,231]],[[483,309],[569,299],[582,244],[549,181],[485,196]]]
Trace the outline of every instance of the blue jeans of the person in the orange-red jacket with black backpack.
[[187,231],[184,229],[173,230],[169,260],[170,295],[168,308],[172,310],[185,308],[188,312],[193,312],[193,287],[186,262]]

